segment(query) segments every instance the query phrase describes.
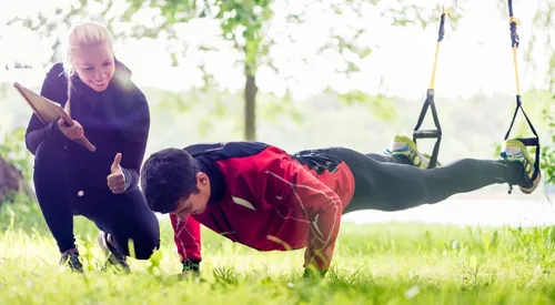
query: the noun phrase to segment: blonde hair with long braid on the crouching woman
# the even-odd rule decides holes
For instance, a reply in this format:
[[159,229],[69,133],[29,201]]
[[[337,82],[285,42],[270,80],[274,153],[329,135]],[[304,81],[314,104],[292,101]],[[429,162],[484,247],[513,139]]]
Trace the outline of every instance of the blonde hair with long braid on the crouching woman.
[[75,51],[80,48],[94,47],[108,43],[113,52],[113,37],[112,33],[102,24],[95,21],[84,21],[69,31],[65,39],[65,59],[63,61],[63,70],[68,78],[68,102],[65,103],[65,111],[69,113],[69,102],[71,99],[71,78],[75,70],[72,61],[75,57]]

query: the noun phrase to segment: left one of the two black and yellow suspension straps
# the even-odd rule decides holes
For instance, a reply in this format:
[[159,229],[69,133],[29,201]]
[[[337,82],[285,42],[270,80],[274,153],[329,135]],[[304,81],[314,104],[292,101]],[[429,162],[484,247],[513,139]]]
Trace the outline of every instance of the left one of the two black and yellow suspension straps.
[[[448,16],[452,17],[451,11],[447,11]],[[426,91],[426,100],[422,106],[418,121],[416,126],[414,126],[413,141],[416,143],[417,139],[436,139],[432,156],[430,157],[428,169],[433,169],[437,164],[437,155],[440,154],[440,143],[442,142],[442,126],[440,124],[440,119],[437,118],[437,110],[435,109],[434,101],[434,85],[435,85],[435,72],[437,69],[437,54],[440,53],[440,44],[445,35],[445,9],[442,8],[442,14],[440,19],[440,30],[437,31],[437,44],[435,47],[435,59],[432,69],[432,79],[430,80],[430,87]],[[427,110],[432,110],[432,116],[434,119],[435,130],[418,130],[424,122]]]

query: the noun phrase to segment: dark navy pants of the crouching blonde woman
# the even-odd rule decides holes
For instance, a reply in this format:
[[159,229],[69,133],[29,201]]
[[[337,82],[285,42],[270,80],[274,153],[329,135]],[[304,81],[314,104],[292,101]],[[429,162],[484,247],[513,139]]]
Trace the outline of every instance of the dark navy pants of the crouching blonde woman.
[[[90,167],[90,166],[89,166]],[[72,160],[56,142],[42,142],[34,157],[34,187],[44,220],[60,252],[75,247],[73,216],[82,215],[111,235],[112,243],[129,256],[129,240],[138,260],[148,260],[160,246],[160,224],[139,189],[113,194],[105,169],[88,169],[87,161]],[[108,169],[109,171],[109,169]],[[102,181],[93,185],[91,177]],[[104,187],[102,187],[102,185]]]

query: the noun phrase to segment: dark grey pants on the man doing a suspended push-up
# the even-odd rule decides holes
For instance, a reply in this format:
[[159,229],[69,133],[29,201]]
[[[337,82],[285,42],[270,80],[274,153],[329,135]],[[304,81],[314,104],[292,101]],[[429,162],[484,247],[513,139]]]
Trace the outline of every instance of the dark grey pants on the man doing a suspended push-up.
[[327,154],[344,161],[355,179],[353,200],[343,213],[433,204],[492,184],[518,184],[524,174],[521,164],[508,161],[462,159],[422,170],[408,165],[404,156],[362,154],[344,148],[329,149]]

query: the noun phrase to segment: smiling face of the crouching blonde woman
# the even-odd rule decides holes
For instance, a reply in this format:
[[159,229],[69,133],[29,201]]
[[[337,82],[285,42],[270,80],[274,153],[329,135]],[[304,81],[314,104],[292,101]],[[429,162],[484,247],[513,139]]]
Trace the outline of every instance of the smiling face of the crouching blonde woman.
[[108,88],[115,70],[112,50],[108,43],[79,48],[72,65],[79,78],[97,92]]

